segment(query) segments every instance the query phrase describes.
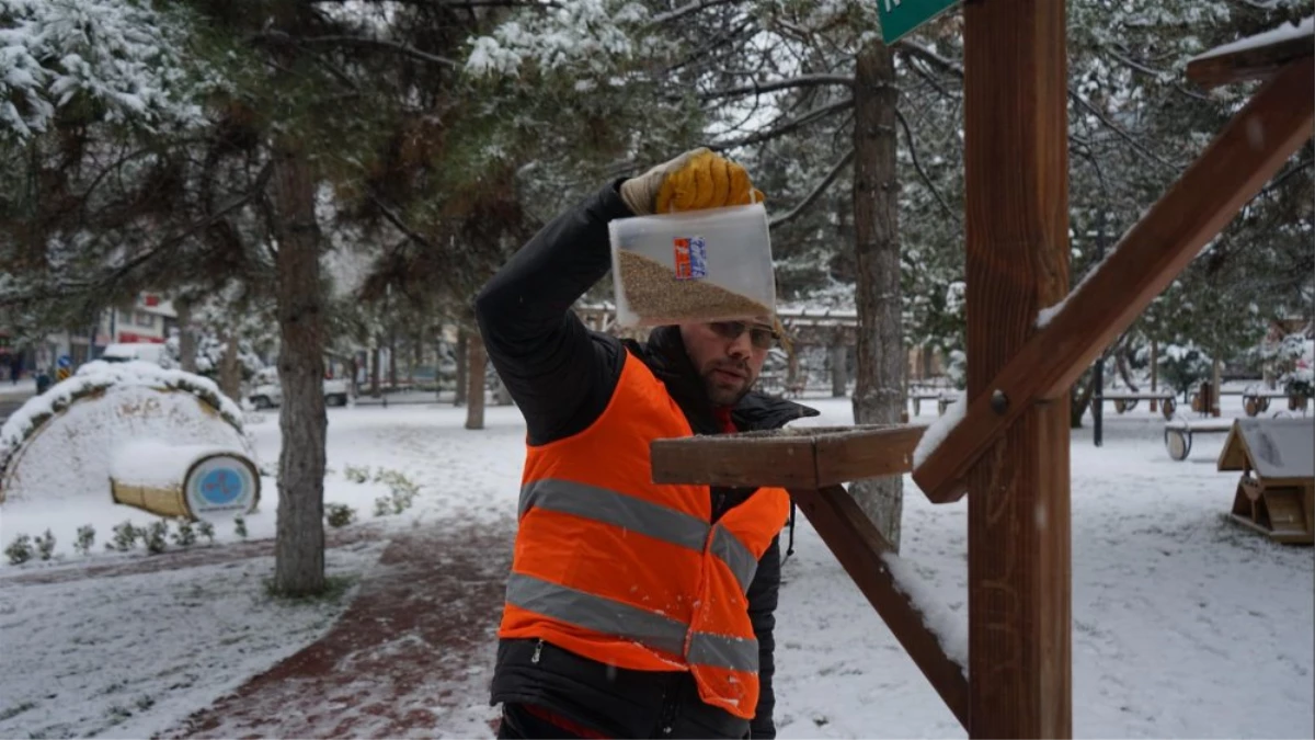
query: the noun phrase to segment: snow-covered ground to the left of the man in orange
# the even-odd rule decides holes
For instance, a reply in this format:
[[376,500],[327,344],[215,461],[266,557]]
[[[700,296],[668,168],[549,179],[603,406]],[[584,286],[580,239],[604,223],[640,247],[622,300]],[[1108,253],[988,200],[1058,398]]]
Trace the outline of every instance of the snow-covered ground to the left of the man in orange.
[[[506,520],[515,511],[523,423],[514,408],[490,408],[488,428],[468,432],[464,413],[434,406],[330,410],[326,502],[351,504],[358,521],[385,528],[441,516]],[[249,431],[260,460],[277,461],[277,413],[249,421]],[[368,467],[371,481],[348,481],[348,466]],[[413,506],[401,515],[373,516],[373,500],[389,494],[385,482],[372,479],[380,469],[402,473],[419,486]],[[259,511],[246,517],[252,540],[272,537],[275,531],[275,481],[264,478],[262,490]],[[155,517],[110,503],[108,491],[103,500],[79,499],[75,512],[67,503],[0,506],[0,542],[50,528],[58,558],[20,568],[0,565],[0,737],[142,740],[318,639],[347,603],[271,602],[264,591],[264,579],[272,574],[270,557],[46,585],[12,579],[147,558],[141,546],[126,554],[104,552],[101,542],[110,527],[124,520],[143,527]],[[95,524],[97,541],[93,553],[83,557],[71,542],[76,527],[87,523]],[[231,527],[216,529],[220,542],[237,539]],[[381,548],[383,541],[375,541],[359,552],[331,549],[330,573],[359,578]],[[471,675],[477,674],[472,669]],[[472,700],[466,714],[487,716],[487,698]],[[118,724],[113,724],[116,718]]]

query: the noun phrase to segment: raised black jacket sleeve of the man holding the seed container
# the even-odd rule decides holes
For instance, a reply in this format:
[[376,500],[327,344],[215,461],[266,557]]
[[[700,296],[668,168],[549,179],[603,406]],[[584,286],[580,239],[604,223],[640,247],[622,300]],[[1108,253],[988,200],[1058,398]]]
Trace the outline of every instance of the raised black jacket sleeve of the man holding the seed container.
[[588,428],[621,375],[619,341],[590,332],[571,312],[611,267],[608,221],[633,215],[618,183],[554,219],[475,299],[489,361],[534,445]]

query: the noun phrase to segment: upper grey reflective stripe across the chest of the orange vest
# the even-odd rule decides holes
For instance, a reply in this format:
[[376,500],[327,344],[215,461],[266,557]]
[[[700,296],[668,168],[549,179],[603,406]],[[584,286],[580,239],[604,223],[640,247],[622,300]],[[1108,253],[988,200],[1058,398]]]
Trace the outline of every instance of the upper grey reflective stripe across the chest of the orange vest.
[[552,478],[533,481],[521,487],[521,516],[531,508],[611,524],[698,553],[707,546],[711,531],[710,552],[731,569],[743,593],[748,593],[757,573],[757,558],[725,527],[608,489]]

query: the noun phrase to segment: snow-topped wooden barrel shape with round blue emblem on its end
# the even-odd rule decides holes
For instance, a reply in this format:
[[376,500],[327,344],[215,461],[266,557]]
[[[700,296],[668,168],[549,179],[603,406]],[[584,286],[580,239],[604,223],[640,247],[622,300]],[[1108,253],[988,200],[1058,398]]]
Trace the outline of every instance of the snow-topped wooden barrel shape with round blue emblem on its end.
[[109,489],[114,503],[160,516],[230,517],[255,510],[260,473],[229,446],[133,440],[113,452]]

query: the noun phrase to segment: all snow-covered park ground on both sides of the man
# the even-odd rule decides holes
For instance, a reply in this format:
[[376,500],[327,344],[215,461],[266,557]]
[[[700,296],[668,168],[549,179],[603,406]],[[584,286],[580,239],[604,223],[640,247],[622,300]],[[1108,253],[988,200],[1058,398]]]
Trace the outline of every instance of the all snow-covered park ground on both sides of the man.
[[[851,420],[848,402],[806,403],[823,411],[814,424]],[[1226,413],[1236,413],[1237,403],[1226,396]],[[932,406],[923,406],[927,420]],[[513,408],[490,408],[483,432],[462,428],[462,410],[435,406],[331,410],[329,419],[327,498],[352,503],[366,521],[496,523],[514,511],[525,431]],[[1220,520],[1236,482],[1214,467],[1222,436],[1198,438],[1189,461],[1173,462],[1162,420],[1144,404],[1124,416],[1107,410],[1106,419],[1103,448],[1090,444],[1089,429],[1074,435],[1072,448],[1074,735],[1311,737],[1312,550]],[[276,415],[251,429],[272,465]],[[421,492],[402,515],[375,520],[372,500],[385,486],[346,481],[348,465],[397,470]],[[249,519],[252,537],[272,532],[271,483],[262,512]],[[911,482],[906,490],[902,557],[967,619],[967,504],[934,507]],[[37,508],[0,515],[5,544],[18,531],[76,527],[72,520],[89,516]],[[330,562],[368,578],[376,556],[371,544],[338,550]],[[96,553],[84,561],[70,553],[63,565],[0,568],[0,737],[85,735],[124,714],[114,707],[132,716],[97,737],[146,737],[314,640],[341,608],[299,612],[266,599],[268,558],[166,575],[14,581],[130,557],[145,556]],[[802,519],[784,574],[776,677],[782,740],[963,736]],[[472,619],[492,623],[497,615]],[[205,643],[188,643],[197,633]],[[437,728],[439,737],[488,736],[487,666],[471,666],[471,677],[454,686],[469,702],[447,715],[451,724]]]

